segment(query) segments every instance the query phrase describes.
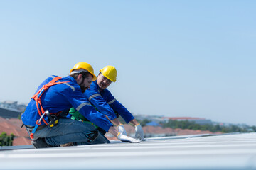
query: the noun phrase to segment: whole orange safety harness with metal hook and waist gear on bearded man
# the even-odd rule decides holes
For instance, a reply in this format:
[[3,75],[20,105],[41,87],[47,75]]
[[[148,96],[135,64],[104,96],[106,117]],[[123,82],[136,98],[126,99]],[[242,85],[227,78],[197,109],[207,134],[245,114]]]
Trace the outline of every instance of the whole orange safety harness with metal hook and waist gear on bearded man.
[[[41,96],[43,95],[44,92],[46,92],[47,89],[50,88],[50,86],[54,86],[56,84],[68,83],[68,81],[57,82],[60,78],[61,77],[54,77],[50,82],[48,82],[48,84],[43,85],[43,87],[39,89],[38,92],[36,92],[36,94],[34,94],[34,96],[32,97],[32,99],[36,101],[36,108],[41,118],[36,120],[36,126],[33,128],[30,134],[31,140],[33,140],[34,138],[33,134],[36,132],[36,129],[38,128],[38,126],[41,125],[41,120],[43,120],[43,122],[49,127],[53,127],[58,123],[58,115],[61,113],[61,111],[58,113],[49,113],[48,110],[44,111],[42,102],[41,102]],[[40,106],[41,108],[39,108]],[[45,119],[46,117],[48,118],[48,122]]]

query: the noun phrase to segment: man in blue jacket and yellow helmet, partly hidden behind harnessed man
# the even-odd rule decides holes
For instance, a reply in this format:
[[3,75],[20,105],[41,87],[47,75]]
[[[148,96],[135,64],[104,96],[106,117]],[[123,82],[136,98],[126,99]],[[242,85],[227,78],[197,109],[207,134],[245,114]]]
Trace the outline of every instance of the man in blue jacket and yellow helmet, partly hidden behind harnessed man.
[[[106,66],[100,69],[97,80],[93,81],[90,89],[85,91],[86,98],[92,103],[93,106],[103,113],[114,125],[117,125],[119,132],[127,135],[124,125],[119,122],[117,115],[121,115],[126,123],[131,123],[135,127],[135,137],[144,141],[144,132],[142,126],[135,120],[132,113],[125,108],[119,101],[117,101],[111,92],[107,89],[112,82],[117,80],[117,69],[114,66]],[[117,114],[116,114],[117,113]],[[75,113],[77,115],[78,113]],[[78,120],[78,118],[75,118]],[[100,125],[97,124],[96,125]]]

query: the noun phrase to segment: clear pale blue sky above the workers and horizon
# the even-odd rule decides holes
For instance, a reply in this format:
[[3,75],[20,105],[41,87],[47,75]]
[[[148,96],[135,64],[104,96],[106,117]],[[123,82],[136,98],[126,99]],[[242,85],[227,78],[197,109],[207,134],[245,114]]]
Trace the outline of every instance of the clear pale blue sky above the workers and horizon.
[[0,1],[0,100],[77,62],[135,114],[256,125],[256,1]]

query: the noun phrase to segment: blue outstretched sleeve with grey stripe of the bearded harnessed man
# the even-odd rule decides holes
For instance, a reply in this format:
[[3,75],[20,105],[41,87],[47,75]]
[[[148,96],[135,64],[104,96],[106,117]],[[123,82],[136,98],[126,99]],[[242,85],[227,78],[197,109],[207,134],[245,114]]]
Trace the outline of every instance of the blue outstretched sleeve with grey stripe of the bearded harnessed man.
[[99,113],[95,110],[95,108],[90,104],[90,102],[82,95],[81,91],[73,91],[71,96],[68,96],[68,101],[75,108],[75,110],[79,111],[85,118],[90,120],[95,125],[100,126],[103,130],[108,132],[112,125],[112,123],[107,120],[105,115]]

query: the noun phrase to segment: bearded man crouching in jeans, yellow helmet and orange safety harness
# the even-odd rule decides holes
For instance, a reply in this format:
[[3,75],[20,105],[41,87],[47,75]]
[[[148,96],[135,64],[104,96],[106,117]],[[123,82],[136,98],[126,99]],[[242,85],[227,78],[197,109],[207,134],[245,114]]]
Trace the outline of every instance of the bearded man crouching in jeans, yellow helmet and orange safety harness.
[[34,147],[58,147],[70,142],[73,145],[110,142],[95,126],[66,118],[65,113],[72,107],[119,140],[139,142],[115,130],[105,115],[98,113],[82,95],[95,79],[92,66],[79,62],[70,70],[70,76],[52,76],[43,81],[21,116]]

